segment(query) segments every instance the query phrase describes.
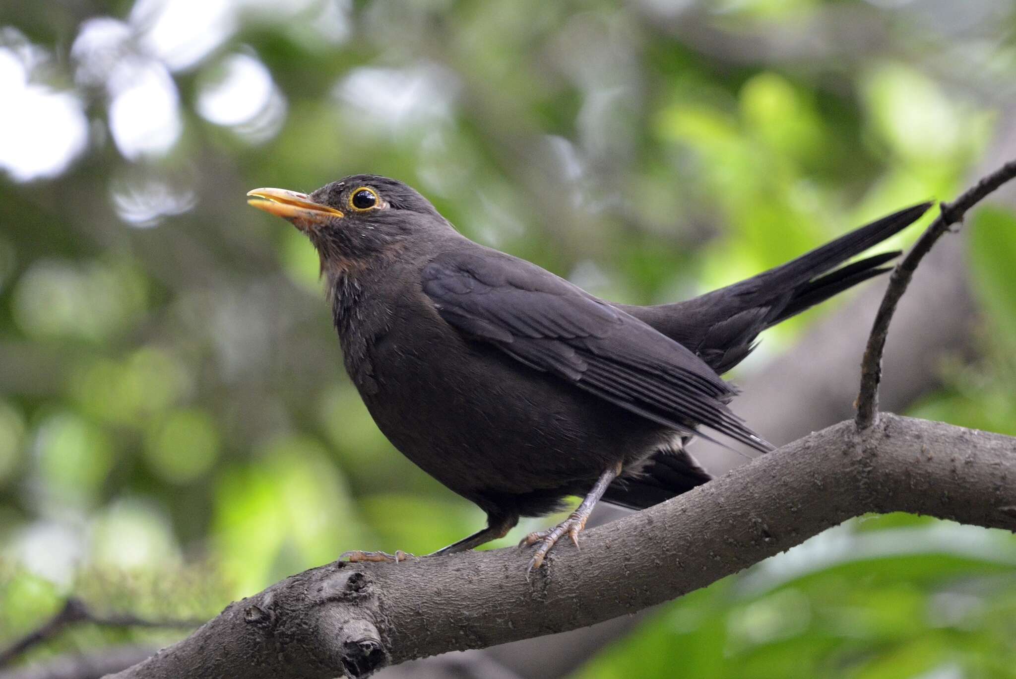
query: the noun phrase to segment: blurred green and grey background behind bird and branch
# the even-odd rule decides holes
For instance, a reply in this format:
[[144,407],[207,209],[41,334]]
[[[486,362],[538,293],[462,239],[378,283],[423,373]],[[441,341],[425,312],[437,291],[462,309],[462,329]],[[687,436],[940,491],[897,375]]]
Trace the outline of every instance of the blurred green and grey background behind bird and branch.
[[[596,295],[675,301],[1016,158],[1014,30],[1008,0],[4,0],[0,647],[71,595],[203,619],[483,524],[377,431],[317,256],[247,190],[392,176]],[[887,408],[1016,434],[1014,203],[919,272]],[[883,287],[768,332],[738,412],[776,443],[849,417]],[[20,662],[182,633],[79,625]],[[636,618],[382,676],[1014,668],[1016,538],[887,515]]]

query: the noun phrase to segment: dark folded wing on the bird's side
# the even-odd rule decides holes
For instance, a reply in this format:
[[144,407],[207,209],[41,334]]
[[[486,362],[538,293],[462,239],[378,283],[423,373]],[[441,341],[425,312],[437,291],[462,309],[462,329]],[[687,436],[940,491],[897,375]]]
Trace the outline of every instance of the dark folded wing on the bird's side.
[[422,276],[438,313],[467,337],[663,426],[704,425],[772,449],[726,407],[736,391],[701,359],[535,264],[486,249],[444,253]]

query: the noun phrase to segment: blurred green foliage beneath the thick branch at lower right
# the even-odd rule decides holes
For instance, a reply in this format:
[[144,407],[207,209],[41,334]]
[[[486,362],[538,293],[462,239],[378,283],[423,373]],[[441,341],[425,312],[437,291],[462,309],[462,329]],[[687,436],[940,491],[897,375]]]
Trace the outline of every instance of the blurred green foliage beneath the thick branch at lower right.
[[577,676],[627,676],[632,658],[660,677],[1016,676],[1011,535],[890,514],[780,558],[684,597]]

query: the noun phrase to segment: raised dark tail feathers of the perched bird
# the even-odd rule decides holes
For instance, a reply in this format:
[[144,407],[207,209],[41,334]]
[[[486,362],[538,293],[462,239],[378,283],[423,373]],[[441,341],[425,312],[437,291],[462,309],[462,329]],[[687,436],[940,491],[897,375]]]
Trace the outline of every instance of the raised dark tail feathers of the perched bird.
[[785,264],[686,302],[623,308],[694,351],[716,372],[726,372],[751,353],[766,328],[890,270],[883,264],[898,251],[836,267],[910,226],[932,204],[901,209]]

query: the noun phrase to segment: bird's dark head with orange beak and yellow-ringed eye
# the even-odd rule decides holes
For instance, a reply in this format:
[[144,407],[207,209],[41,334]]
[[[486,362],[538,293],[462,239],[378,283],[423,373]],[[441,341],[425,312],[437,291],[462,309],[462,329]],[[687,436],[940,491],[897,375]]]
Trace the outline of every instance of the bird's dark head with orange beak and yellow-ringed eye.
[[429,240],[436,231],[451,230],[415,189],[377,175],[352,175],[310,194],[262,188],[247,195],[254,207],[307,234],[325,270],[367,265],[398,252],[410,238]]

